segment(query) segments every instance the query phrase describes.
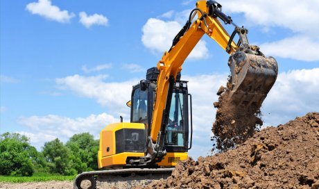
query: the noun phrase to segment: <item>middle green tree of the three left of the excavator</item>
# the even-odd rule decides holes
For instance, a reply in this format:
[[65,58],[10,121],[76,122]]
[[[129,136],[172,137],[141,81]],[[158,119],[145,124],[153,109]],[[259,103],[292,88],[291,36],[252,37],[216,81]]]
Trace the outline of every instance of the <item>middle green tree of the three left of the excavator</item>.
[[70,151],[58,138],[51,142],[45,142],[42,154],[46,158],[46,165],[50,167],[51,172],[69,174],[67,165]]

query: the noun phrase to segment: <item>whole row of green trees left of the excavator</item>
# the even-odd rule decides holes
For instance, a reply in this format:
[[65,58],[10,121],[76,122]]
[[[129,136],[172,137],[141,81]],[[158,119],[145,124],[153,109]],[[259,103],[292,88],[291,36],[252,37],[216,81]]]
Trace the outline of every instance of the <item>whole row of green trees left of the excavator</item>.
[[[29,144],[25,135],[3,133],[0,138],[0,174],[11,176],[33,176],[41,181],[44,173],[52,177],[76,175],[97,169],[98,140],[89,133],[73,135],[66,145],[58,138],[45,142],[42,151]],[[49,173],[49,174],[48,174]],[[40,175],[39,175],[40,174]],[[8,179],[7,177],[3,177]],[[12,177],[13,178],[13,177]],[[13,179],[20,182],[24,179]],[[32,179],[26,179],[31,181]],[[1,181],[1,179],[0,179]]]

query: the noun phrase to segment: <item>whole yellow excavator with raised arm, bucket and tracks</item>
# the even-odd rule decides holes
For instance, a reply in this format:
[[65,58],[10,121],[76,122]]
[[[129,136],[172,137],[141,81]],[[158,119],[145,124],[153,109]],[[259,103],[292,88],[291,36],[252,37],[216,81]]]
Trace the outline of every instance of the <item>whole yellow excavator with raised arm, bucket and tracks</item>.
[[[234,26],[231,35],[222,22]],[[198,1],[169,51],[164,52],[156,67],[147,70],[146,79],[133,86],[127,103],[130,122],[123,122],[121,117],[121,122],[101,131],[101,170],[78,174],[74,188],[81,188],[85,180],[90,188],[96,188],[96,180],[107,176],[171,174],[175,165],[187,158],[193,135],[192,102],[181,71],[184,60],[205,34],[230,54],[230,101],[236,106],[261,107],[277,78],[275,58],[266,58],[259,47],[250,45],[248,30],[234,24],[222,12],[221,4]],[[236,35],[238,42],[234,42]]]

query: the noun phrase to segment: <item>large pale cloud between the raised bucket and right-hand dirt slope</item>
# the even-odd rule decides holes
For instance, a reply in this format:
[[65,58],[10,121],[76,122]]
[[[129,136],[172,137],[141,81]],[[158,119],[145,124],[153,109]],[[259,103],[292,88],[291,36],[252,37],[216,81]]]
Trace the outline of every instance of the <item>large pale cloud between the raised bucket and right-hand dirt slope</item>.
[[318,112],[318,81],[319,68],[279,74],[262,108],[266,125],[277,126],[308,112]]

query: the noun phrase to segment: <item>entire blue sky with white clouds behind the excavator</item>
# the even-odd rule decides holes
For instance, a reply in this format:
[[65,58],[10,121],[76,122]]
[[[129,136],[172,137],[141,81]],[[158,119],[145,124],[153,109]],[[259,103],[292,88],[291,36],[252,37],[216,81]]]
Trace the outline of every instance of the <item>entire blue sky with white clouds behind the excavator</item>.
[[[75,133],[97,139],[120,115],[128,122],[132,85],[169,50],[195,3],[0,1],[0,133],[27,135],[40,150]],[[219,3],[248,28],[250,44],[277,60],[277,81],[261,108],[264,126],[318,112],[319,1]],[[213,102],[227,82],[228,57],[204,36],[184,62],[182,79],[193,97],[193,158],[210,154]]]

